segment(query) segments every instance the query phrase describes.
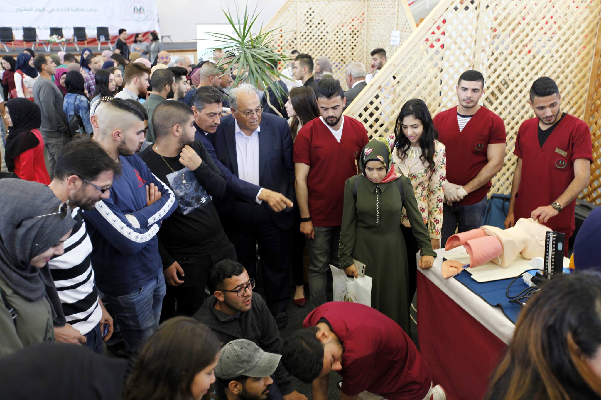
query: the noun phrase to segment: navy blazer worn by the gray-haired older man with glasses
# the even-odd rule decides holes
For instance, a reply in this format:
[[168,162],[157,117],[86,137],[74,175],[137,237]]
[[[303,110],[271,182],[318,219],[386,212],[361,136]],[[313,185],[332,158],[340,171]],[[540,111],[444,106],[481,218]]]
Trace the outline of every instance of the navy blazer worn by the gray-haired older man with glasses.
[[[261,187],[284,194],[295,204],[294,196],[294,164],[292,162],[292,136],[288,122],[279,116],[263,113],[261,115],[261,131],[259,135],[259,184]],[[227,115],[221,118],[221,124],[217,131],[209,134],[209,139],[215,147],[215,155],[218,161],[231,171],[231,175],[225,176],[227,181],[227,193],[244,194],[248,191],[248,182],[238,179],[238,159],[236,155],[236,130],[233,116]],[[252,185],[254,186],[254,185]],[[221,199],[217,204],[219,214],[230,215],[234,201],[254,199],[254,194],[244,196],[229,195]],[[261,204],[267,207],[269,215],[276,225],[283,230],[288,230],[294,224],[294,207],[287,208],[282,212],[273,211],[266,202]]]

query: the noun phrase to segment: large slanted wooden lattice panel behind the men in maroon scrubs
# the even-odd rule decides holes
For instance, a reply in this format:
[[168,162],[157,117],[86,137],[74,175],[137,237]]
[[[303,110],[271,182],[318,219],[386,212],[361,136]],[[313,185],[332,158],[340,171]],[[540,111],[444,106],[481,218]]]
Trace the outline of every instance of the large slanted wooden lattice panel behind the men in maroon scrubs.
[[532,82],[552,77],[562,110],[585,116],[600,11],[601,0],[443,0],[345,114],[363,121],[370,137],[382,136],[394,131],[398,110],[411,98],[423,99],[432,115],[456,106],[460,74],[479,70],[486,79],[481,104],[507,130],[505,164],[490,193],[510,193],[517,130],[534,117],[527,103]]

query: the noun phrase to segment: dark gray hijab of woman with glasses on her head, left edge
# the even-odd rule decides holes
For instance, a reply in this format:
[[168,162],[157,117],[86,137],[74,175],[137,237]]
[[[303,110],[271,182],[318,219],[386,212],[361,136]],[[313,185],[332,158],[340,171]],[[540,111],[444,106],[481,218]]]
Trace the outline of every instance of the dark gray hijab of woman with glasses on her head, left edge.
[[29,261],[73,228],[71,212],[65,219],[59,214],[29,219],[57,212],[61,204],[49,187],[37,182],[0,179],[0,193],[0,278],[23,299],[35,302],[46,297],[55,322],[64,324],[50,270],[33,267]]

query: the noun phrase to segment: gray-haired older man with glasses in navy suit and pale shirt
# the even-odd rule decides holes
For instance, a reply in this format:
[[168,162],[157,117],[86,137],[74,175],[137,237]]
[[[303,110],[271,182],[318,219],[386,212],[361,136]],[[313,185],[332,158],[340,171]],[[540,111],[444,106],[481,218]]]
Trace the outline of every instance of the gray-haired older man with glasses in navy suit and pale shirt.
[[[231,89],[229,99],[232,114],[221,118],[216,132],[209,134],[219,163],[230,171],[227,196],[219,199],[217,208],[238,261],[253,279],[258,243],[266,303],[283,327],[290,301],[295,199],[290,127],[284,118],[263,113],[258,91],[248,83]],[[264,190],[282,197],[279,206],[261,200]]]

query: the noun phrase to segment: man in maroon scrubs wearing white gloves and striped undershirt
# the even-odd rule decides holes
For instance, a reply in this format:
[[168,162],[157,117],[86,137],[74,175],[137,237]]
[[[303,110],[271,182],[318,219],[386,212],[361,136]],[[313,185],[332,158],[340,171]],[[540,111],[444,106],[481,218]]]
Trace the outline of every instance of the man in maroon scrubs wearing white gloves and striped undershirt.
[[447,181],[441,247],[455,231],[480,228],[490,179],[503,167],[505,124],[480,106],[484,77],[465,71],[457,82],[459,105],[435,116],[438,140],[447,147]]

